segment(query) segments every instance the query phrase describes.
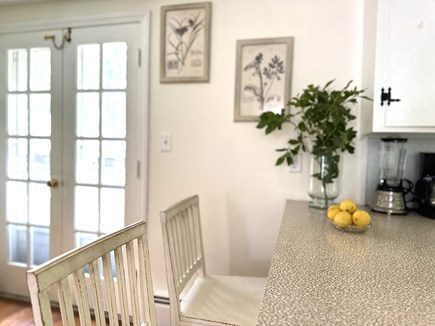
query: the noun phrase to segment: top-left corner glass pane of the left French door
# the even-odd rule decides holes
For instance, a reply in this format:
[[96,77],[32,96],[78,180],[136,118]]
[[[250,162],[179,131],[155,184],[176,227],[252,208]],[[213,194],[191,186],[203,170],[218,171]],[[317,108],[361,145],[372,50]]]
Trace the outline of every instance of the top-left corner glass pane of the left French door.
[[8,89],[10,92],[27,91],[27,49],[8,51]]

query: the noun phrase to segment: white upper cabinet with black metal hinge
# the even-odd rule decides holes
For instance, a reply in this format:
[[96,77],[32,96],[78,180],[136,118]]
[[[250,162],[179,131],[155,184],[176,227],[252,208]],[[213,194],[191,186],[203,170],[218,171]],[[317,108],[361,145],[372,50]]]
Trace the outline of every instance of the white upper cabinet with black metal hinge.
[[435,133],[435,1],[365,4],[363,132]]

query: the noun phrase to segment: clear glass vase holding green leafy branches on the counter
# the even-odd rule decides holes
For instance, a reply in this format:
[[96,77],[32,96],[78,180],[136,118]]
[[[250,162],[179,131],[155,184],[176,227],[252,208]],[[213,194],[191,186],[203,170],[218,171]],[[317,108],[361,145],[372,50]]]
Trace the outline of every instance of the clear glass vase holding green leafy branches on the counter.
[[339,178],[327,180],[331,160],[331,154],[311,155],[310,185],[308,189],[308,195],[311,198],[310,207],[326,209],[334,203],[339,195]]

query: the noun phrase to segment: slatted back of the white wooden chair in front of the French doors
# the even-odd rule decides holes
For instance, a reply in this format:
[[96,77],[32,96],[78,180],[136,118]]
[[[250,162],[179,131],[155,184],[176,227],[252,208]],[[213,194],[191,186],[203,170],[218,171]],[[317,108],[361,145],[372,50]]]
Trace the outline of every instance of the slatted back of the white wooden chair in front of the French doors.
[[156,325],[146,232],[137,222],[28,271],[36,326],[53,325],[56,290],[65,326],[75,325],[73,305],[80,325],[91,325],[92,311],[96,325]]

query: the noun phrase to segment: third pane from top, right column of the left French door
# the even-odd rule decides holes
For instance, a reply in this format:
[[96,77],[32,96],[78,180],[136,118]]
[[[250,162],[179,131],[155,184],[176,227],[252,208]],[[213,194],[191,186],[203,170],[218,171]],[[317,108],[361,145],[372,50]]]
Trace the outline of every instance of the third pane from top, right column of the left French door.
[[30,179],[35,181],[50,180],[50,151],[49,139],[30,139]]

